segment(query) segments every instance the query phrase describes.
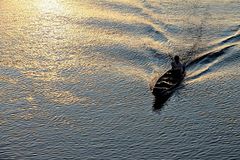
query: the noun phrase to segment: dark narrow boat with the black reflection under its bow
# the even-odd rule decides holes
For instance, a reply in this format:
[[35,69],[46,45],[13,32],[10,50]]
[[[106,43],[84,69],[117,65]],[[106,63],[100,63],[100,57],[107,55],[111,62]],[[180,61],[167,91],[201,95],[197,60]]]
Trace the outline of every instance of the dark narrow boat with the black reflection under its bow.
[[171,69],[161,76],[152,89],[155,96],[154,107],[161,107],[174,92],[174,89],[180,85],[186,73],[176,75]]

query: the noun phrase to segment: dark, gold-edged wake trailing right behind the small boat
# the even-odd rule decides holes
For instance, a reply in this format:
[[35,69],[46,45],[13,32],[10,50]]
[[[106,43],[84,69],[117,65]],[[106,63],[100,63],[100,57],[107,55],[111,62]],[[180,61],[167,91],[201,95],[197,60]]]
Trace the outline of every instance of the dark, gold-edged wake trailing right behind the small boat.
[[221,42],[213,45],[210,51],[203,52],[196,56],[193,60],[187,63],[188,78],[187,81],[194,81],[202,76],[217,72],[222,67],[229,65],[231,62],[240,58],[238,52],[234,50],[239,49],[240,34],[227,37]]

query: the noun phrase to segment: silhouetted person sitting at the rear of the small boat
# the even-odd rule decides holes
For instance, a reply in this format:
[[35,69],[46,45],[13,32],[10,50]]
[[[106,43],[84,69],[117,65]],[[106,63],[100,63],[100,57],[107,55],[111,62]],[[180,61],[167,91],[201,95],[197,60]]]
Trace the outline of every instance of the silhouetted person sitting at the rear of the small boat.
[[185,72],[185,65],[180,62],[179,56],[174,56],[172,65],[172,71],[175,77],[180,77]]

